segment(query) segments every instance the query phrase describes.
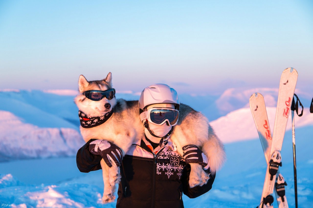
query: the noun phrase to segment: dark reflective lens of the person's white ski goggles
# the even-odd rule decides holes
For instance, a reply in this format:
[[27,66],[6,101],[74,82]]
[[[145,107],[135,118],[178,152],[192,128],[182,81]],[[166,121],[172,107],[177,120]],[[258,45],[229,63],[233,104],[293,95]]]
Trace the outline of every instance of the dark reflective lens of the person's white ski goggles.
[[174,125],[178,119],[178,111],[170,109],[153,109],[150,111],[150,119],[153,123],[161,124],[163,121],[170,121],[171,125]]

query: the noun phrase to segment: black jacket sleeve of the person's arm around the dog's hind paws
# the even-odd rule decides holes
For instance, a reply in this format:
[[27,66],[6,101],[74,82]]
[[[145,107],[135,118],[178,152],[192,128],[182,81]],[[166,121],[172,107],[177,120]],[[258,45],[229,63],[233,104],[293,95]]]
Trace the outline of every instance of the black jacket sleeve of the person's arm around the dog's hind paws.
[[[190,188],[190,186],[189,186],[190,170],[191,170],[191,168],[190,168],[189,164],[187,164],[183,169],[183,173],[182,173],[183,193],[185,195],[187,195],[189,198],[196,198],[196,197],[201,196],[201,195],[207,193],[208,191],[210,191],[212,188],[212,184],[214,182],[214,179],[215,179],[215,174],[211,173],[210,179],[203,186],[195,186],[195,187]],[[208,169],[206,172],[210,172],[210,170]]]

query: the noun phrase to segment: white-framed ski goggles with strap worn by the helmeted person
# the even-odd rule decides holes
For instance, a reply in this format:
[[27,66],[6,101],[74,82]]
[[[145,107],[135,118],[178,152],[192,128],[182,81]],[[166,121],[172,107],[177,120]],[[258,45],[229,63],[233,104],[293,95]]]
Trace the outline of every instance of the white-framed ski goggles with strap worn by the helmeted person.
[[177,124],[179,112],[172,108],[150,108],[139,116],[141,121],[148,120],[159,126],[167,121],[171,126],[174,126]]

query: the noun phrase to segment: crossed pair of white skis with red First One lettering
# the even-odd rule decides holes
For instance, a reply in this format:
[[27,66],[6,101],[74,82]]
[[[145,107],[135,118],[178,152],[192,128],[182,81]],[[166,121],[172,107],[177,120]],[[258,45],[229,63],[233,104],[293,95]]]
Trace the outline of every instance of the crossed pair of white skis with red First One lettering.
[[269,128],[263,96],[256,93],[250,97],[250,109],[259,132],[267,162],[267,171],[259,206],[262,208],[273,207],[274,197],[272,195],[274,188],[278,206],[288,207],[285,197],[285,185],[287,184],[278,169],[279,166],[282,166],[280,151],[285,136],[297,78],[298,73],[293,68],[285,69],[281,75],[273,135],[271,135]]

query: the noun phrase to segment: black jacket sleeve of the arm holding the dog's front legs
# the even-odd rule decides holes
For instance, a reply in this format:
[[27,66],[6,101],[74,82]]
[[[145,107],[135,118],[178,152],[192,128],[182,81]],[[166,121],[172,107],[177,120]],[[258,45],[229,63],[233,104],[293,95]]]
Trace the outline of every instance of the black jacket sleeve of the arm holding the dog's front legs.
[[76,164],[80,172],[88,173],[90,171],[100,170],[101,165],[100,161],[102,160],[102,156],[94,155],[89,151],[89,144],[96,139],[90,139],[87,143],[82,146],[76,155]]

